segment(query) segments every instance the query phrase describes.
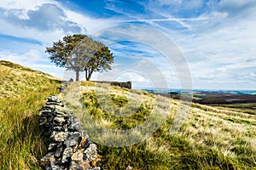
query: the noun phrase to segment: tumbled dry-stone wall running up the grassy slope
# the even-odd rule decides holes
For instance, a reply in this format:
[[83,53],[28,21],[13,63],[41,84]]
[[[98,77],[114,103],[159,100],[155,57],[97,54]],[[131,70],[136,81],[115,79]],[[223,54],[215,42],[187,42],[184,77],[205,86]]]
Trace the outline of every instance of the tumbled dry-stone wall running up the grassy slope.
[[49,137],[48,154],[40,160],[47,170],[100,170],[101,156],[82,123],[56,96],[49,96],[40,111],[40,127]]

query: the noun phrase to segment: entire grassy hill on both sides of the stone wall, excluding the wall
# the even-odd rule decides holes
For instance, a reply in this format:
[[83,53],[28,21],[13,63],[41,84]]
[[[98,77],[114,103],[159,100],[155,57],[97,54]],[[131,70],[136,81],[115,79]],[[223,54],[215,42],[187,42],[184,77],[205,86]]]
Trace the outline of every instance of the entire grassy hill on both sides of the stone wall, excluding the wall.
[[[8,61],[0,61],[0,77],[0,169],[40,169],[38,160],[47,153],[49,139],[39,129],[38,111],[46,97],[58,94],[61,81]],[[95,82],[73,82],[59,96],[89,134],[97,132],[91,138],[99,142],[102,169],[256,169],[256,111],[250,105],[246,109],[189,105],[143,90]],[[183,108],[189,114],[172,133],[177,111]],[[89,116],[81,114],[81,109]],[[142,142],[125,147],[104,145],[125,142],[114,133],[102,135],[105,129],[129,130],[140,125],[147,129],[143,122],[150,116],[153,124],[163,122]],[[141,134],[135,128],[131,140]]]

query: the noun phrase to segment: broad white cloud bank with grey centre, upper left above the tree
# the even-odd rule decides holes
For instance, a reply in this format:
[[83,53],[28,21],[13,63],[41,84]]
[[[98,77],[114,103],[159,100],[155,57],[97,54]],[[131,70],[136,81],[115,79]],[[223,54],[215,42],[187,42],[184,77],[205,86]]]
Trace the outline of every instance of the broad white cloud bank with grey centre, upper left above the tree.
[[116,23],[79,14],[52,0],[3,0],[0,3],[1,13],[0,34],[32,38],[46,44],[67,34],[92,33]]

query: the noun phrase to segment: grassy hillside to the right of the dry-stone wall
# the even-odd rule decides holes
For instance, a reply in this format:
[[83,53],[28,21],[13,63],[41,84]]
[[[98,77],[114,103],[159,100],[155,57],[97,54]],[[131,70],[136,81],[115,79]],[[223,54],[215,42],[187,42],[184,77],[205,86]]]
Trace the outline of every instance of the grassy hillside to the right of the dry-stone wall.
[[[92,82],[83,82],[78,87],[74,82],[63,99],[77,111],[90,133],[98,133],[93,138],[103,143],[99,150],[105,169],[256,169],[255,111],[192,104],[183,126],[172,133],[177,110],[188,107],[178,100],[138,90],[128,94],[128,89],[108,85],[95,88]],[[162,102],[155,103],[156,98]],[[83,111],[89,116],[84,116]],[[166,119],[143,142],[125,147],[104,145],[127,142],[119,134],[102,135],[105,129],[128,130],[142,125],[151,114],[155,115],[154,121],[160,121],[160,116]],[[147,124],[143,126],[143,130],[150,128]],[[135,129],[128,140],[141,138],[140,134],[143,133]]]

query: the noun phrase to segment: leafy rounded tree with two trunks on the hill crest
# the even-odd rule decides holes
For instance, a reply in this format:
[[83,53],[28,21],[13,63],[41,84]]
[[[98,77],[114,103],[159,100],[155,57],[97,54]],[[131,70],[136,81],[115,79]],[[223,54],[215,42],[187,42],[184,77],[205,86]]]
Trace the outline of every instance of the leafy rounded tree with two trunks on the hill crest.
[[113,54],[102,42],[97,42],[82,34],[63,37],[53,46],[46,48],[51,62],[67,70],[76,72],[76,81],[79,81],[79,72],[85,71],[86,81],[94,71],[111,70]]

